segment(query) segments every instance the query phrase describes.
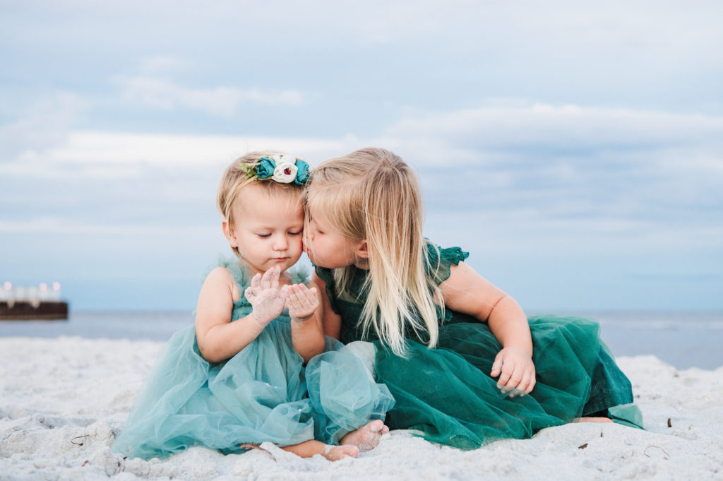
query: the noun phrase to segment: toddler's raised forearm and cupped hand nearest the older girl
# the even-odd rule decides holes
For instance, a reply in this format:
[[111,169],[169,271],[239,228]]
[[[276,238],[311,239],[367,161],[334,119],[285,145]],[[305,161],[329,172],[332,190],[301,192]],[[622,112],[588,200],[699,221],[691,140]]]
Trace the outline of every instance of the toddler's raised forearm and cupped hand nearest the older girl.
[[308,362],[324,351],[324,331],[317,289],[309,289],[304,284],[289,287],[286,306],[288,315],[291,316],[291,342],[304,362]]

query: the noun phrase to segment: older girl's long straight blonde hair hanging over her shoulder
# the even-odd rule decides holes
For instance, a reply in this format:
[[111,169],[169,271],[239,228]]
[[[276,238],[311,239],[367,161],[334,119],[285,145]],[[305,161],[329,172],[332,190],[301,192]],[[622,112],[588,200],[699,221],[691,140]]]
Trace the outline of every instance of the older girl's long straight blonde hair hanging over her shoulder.
[[[361,313],[364,336],[374,329],[395,354],[405,353],[405,334],[427,333],[437,344],[437,284],[427,276],[427,241],[422,235],[422,193],[416,174],[399,156],[364,148],[320,163],[305,197],[341,233],[367,241],[369,275]],[[308,218],[308,216],[307,216]],[[353,266],[334,269],[339,297],[351,299]]]

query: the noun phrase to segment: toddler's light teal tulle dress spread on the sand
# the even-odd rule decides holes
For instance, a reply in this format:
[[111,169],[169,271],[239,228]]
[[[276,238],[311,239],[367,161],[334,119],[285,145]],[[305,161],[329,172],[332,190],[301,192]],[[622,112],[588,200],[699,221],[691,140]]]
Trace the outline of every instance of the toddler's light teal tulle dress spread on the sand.
[[[232,320],[248,315],[247,279],[236,259],[224,261],[241,291]],[[289,271],[291,273],[291,271]],[[294,283],[305,281],[291,273]],[[294,278],[295,277],[295,278]],[[289,446],[310,439],[338,444],[394,404],[359,357],[335,339],[304,365],[291,344],[291,318],[281,315],[224,362],[200,355],[194,325],[171,337],[138,393],[113,451],[150,459],[206,446],[224,453],[242,443]]]

